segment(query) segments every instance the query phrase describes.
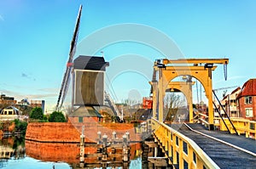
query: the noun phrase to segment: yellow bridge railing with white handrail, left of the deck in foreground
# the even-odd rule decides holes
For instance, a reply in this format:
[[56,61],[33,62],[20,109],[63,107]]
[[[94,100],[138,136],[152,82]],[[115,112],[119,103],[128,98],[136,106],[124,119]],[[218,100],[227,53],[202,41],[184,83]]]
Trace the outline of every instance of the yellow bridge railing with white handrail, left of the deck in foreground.
[[178,168],[219,168],[190,138],[155,119],[148,121],[166,157]]

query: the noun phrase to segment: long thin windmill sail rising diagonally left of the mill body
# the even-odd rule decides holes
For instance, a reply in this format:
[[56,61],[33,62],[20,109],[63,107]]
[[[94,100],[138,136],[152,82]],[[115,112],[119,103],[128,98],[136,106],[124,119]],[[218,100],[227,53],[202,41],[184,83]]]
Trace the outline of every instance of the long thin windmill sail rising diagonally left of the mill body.
[[[62,104],[63,104],[63,102],[66,98],[66,95],[67,95],[67,88],[68,88],[68,85],[69,85],[69,78],[70,78],[70,74],[71,74],[72,67],[73,67],[73,56],[76,52],[77,40],[78,40],[78,37],[79,37],[79,25],[80,25],[80,17],[81,17],[81,13],[82,13],[82,8],[83,8],[83,6],[80,5],[78,18],[77,18],[75,29],[74,29],[74,32],[73,32],[73,38],[72,38],[72,41],[70,43],[69,57],[68,57],[68,60],[67,60],[67,69],[66,69],[64,77],[62,79],[61,91],[59,93],[59,97],[58,97],[56,108],[55,108],[56,110],[61,109]],[[60,104],[60,102],[61,102],[61,104]]]

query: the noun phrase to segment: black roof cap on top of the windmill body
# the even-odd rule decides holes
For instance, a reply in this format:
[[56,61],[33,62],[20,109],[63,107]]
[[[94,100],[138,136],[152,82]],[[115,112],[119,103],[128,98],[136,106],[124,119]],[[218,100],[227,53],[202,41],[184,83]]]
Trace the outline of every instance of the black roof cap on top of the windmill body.
[[106,70],[109,63],[103,57],[79,55],[73,61],[73,68],[78,70]]

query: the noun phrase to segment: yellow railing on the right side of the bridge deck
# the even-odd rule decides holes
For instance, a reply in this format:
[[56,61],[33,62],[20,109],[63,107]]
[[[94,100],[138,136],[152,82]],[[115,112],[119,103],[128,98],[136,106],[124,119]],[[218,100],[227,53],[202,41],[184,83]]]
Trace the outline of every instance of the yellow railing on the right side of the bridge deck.
[[[221,131],[227,131],[227,128],[224,126],[224,122],[220,118],[214,118],[214,126],[219,127]],[[236,133],[233,127],[230,124],[232,121],[233,125],[236,127],[238,134],[245,134],[246,138],[256,139],[256,121],[249,121],[242,118],[230,118],[230,121],[227,118],[224,118],[227,127],[230,129],[231,133]]]

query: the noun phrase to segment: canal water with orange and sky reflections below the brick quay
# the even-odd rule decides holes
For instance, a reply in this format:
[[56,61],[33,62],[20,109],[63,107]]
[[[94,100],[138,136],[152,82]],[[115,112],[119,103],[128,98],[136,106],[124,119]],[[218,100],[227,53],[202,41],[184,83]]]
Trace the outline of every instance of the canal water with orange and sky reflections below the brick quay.
[[[90,154],[93,147],[85,148]],[[123,166],[122,161],[114,161],[115,168],[142,168],[141,144],[131,144],[130,161]],[[78,144],[53,144],[38,143],[25,140],[24,137],[2,138],[0,141],[0,168],[38,168],[38,169],[62,169],[79,168],[79,145]],[[93,155],[92,155],[93,156]],[[113,161],[107,162],[107,167],[102,167],[99,162],[91,161],[87,168],[113,168],[108,167]],[[97,163],[97,164],[94,164]],[[94,166],[95,165],[95,166]]]

